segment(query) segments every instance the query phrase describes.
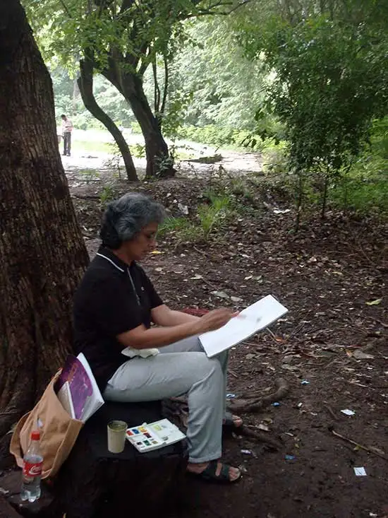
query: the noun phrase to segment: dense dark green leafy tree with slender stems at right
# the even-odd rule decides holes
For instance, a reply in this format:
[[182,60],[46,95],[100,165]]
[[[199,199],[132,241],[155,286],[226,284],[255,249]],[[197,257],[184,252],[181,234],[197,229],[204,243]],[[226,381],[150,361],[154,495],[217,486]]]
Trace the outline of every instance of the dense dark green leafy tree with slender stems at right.
[[[266,107],[286,126],[289,165],[298,176],[298,216],[311,174],[320,180],[323,216],[330,183],[363,150],[373,117],[387,113],[387,4],[281,5],[272,4],[265,23],[248,20],[243,42],[251,57],[264,53],[275,72]],[[257,121],[264,115],[261,107]]]

